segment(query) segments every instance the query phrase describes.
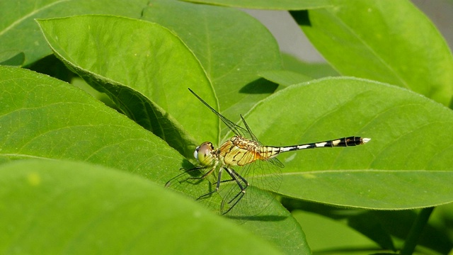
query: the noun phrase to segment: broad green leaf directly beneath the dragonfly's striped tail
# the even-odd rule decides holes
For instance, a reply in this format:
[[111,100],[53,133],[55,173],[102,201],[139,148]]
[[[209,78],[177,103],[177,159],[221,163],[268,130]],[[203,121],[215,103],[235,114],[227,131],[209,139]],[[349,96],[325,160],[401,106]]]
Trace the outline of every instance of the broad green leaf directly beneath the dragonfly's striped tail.
[[[279,191],[284,196],[374,209],[422,208],[453,201],[453,113],[406,89],[352,78],[309,81],[270,96],[246,120],[265,145],[352,135],[372,138],[360,147],[280,155],[286,165]],[[362,171],[344,171],[349,169]]]

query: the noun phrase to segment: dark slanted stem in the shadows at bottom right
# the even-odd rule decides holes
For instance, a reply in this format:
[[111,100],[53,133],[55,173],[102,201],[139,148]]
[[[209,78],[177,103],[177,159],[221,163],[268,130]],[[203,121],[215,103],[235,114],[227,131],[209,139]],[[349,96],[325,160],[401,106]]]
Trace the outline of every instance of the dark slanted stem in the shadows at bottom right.
[[403,249],[401,249],[401,254],[409,255],[413,254],[415,250],[415,246],[417,245],[418,239],[420,238],[420,234],[423,232],[423,228],[428,222],[430,215],[434,208],[423,208],[417,215],[415,222],[409,231],[408,237],[406,238],[406,242],[404,242]]

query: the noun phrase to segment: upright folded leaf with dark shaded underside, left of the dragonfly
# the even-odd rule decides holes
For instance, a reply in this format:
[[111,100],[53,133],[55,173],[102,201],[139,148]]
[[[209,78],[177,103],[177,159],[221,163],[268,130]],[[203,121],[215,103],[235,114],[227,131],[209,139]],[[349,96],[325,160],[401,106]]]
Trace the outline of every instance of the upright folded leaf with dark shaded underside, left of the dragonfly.
[[207,109],[187,107],[197,101],[188,96],[188,87],[212,103],[212,94],[208,97],[202,93],[207,89],[200,89],[210,88],[210,81],[192,52],[166,28],[114,16],[38,23],[59,59],[185,157],[193,154],[201,135],[218,140],[212,124],[219,120],[205,118]]

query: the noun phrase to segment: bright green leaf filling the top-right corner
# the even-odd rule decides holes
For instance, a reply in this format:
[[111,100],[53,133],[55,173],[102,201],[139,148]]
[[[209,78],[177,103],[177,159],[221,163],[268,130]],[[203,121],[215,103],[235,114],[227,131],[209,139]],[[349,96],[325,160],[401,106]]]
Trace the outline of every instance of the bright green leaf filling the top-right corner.
[[452,53],[411,1],[332,4],[335,7],[292,15],[340,74],[401,86],[449,106]]

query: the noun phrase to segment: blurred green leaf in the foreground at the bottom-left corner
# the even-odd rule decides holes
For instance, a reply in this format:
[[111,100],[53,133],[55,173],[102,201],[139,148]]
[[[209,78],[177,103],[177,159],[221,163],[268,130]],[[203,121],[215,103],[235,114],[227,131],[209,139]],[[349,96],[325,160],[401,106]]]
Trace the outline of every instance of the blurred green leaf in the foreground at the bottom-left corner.
[[102,166],[13,162],[0,166],[0,186],[2,254],[279,254],[168,189]]

